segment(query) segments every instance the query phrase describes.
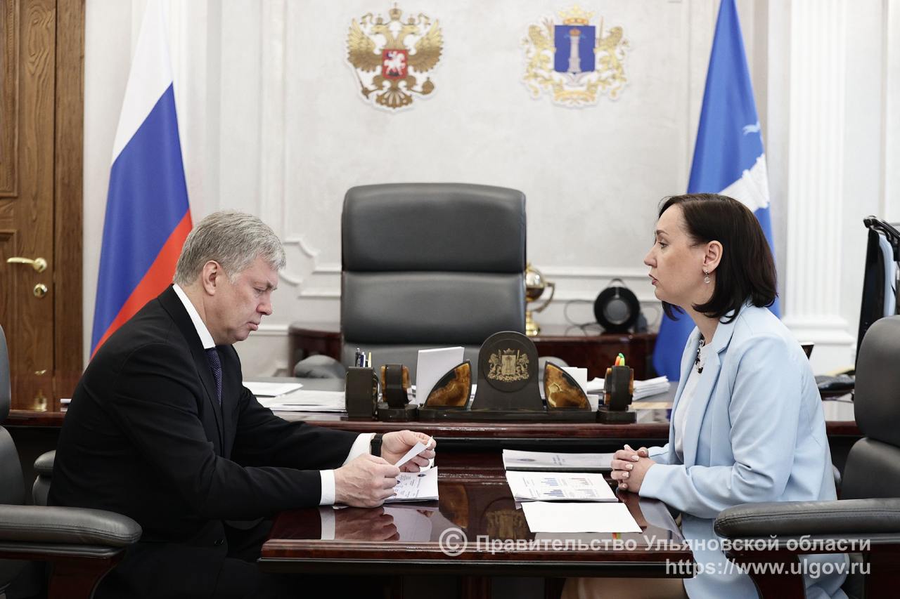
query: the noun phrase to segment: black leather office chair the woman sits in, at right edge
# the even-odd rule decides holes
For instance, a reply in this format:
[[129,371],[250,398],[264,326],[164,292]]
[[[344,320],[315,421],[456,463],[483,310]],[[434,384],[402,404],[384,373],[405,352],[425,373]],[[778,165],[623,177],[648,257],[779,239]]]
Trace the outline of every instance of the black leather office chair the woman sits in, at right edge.
[[[738,564],[797,563],[804,553],[847,553],[865,560],[869,574],[848,577],[851,597],[891,597],[900,589],[900,317],[869,327],[856,368],[854,411],[864,435],[847,457],[838,501],[744,504],[716,519],[716,533],[732,540],[771,541],[777,548],[734,550]],[[804,537],[804,535],[808,535]],[[815,541],[815,547],[809,547]],[[860,545],[869,550],[860,551]],[[768,568],[768,566],[767,566]],[[803,597],[800,576],[750,573],[761,597]]]

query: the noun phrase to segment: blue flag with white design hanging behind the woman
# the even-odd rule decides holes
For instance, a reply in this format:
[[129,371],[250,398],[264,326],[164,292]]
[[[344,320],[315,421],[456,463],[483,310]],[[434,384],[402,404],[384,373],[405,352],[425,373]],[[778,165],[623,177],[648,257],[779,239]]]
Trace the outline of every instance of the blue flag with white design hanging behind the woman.
[[[688,192],[722,193],[743,202],[759,219],[774,254],[766,154],[734,0],[722,0],[719,7]],[[770,309],[780,315],[778,300]],[[693,328],[686,315],[677,321],[662,317],[653,350],[659,374],[680,379],[681,353]]]

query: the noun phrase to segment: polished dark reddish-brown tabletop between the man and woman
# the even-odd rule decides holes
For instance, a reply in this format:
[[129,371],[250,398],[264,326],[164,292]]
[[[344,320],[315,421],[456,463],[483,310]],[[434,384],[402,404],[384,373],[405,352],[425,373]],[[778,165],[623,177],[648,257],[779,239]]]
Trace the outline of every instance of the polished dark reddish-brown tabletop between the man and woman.
[[[438,446],[436,466],[438,502],[279,514],[260,567],[359,575],[676,577],[666,571],[667,560],[692,562],[659,501],[620,494],[640,533],[536,534],[513,501],[499,451],[441,452]],[[321,539],[320,510],[334,513],[332,540]]]

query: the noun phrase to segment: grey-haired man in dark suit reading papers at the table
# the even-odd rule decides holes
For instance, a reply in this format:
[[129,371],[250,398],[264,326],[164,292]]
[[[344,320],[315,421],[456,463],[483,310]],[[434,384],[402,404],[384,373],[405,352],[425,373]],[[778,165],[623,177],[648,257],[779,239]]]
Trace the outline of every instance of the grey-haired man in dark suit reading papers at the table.
[[[385,434],[379,456],[373,435],[286,422],[243,387],[232,344],[272,313],[283,267],[281,242],[259,219],[203,219],[175,283],[110,336],[79,381],[49,503],[111,510],[143,528],[98,596],[266,595],[272,581],[248,562],[268,524],[226,521],[381,505],[400,472],[392,464],[429,441]],[[404,469],[433,456],[429,448]]]

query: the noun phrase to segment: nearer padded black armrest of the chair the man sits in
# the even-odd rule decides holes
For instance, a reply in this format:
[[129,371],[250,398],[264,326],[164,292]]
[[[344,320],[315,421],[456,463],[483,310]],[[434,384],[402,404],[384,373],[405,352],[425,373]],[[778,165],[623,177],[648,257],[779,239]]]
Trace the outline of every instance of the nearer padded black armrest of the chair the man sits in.
[[82,507],[0,505],[0,541],[127,547],[140,524],[128,516]]

